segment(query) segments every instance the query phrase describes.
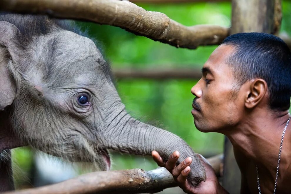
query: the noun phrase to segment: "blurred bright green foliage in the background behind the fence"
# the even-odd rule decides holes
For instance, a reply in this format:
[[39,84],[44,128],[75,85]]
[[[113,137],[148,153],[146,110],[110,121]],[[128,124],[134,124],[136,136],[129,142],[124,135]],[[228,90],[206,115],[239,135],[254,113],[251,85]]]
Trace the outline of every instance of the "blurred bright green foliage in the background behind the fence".
[[[231,4],[184,3],[138,4],[149,11],[165,13],[181,24],[215,24],[230,27]],[[201,46],[196,50],[177,49],[168,44],[136,36],[123,29],[89,22],[78,22],[89,36],[99,42],[99,47],[113,68],[201,68],[217,46]],[[291,2],[283,1],[282,32],[291,35]],[[116,85],[127,110],[135,118],[171,131],[198,153],[205,156],[223,152],[224,137],[218,133],[201,133],[193,123],[190,113],[194,96],[190,89],[198,80],[117,80]],[[218,97],[219,98],[219,97]],[[32,153],[28,148],[18,148],[14,161],[24,172],[29,172]],[[150,157],[113,153],[112,169],[153,169]],[[19,181],[19,180],[17,180]],[[16,181],[16,182],[17,182]]]

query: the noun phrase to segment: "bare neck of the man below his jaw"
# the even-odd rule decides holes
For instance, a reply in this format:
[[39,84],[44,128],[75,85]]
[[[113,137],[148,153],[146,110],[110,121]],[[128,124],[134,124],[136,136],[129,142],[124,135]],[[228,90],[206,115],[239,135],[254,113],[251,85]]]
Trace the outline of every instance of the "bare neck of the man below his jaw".
[[[264,112],[265,115],[260,113],[250,114],[235,128],[225,133],[234,149],[240,150],[240,153],[259,163],[262,158],[269,158],[271,161],[268,162],[278,160],[283,129],[288,118],[290,118],[288,111],[276,114],[270,111]],[[291,124],[287,127],[286,139],[291,137],[290,130]],[[291,144],[289,142],[285,141],[285,147],[287,147],[287,144],[289,147]]]

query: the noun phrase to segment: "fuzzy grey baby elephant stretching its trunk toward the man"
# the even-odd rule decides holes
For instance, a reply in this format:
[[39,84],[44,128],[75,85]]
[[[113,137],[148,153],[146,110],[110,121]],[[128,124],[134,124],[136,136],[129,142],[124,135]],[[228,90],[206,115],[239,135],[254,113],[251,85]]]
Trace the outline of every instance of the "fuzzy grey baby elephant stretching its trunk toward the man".
[[[45,16],[2,14],[0,45],[0,113],[6,118],[0,153],[31,145],[109,170],[108,149],[136,155],[157,150],[164,160],[178,150],[179,163],[193,159],[188,180],[205,180],[200,160],[181,138],[126,112],[101,52],[76,28]],[[83,106],[82,95],[89,99]]]

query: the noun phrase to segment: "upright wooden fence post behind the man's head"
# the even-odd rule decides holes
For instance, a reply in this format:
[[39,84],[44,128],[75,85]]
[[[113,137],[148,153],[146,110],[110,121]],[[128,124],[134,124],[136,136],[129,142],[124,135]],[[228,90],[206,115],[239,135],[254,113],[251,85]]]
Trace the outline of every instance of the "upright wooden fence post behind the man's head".
[[[277,32],[280,24],[276,22],[281,22],[278,6],[281,6],[280,0],[233,0],[230,33]],[[228,138],[225,138],[224,155],[223,187],[229,193],[240,193],[241,174]]]

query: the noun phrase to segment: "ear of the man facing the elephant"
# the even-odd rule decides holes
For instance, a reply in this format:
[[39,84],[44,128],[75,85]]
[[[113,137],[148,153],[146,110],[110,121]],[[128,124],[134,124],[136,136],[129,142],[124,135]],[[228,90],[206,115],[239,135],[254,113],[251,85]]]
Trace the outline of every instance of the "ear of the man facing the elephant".
[[255,79],[251,82],[247,96],[245,97],[245,106],[254,108],[262,101],[267,93],[267,82],[263,79]]

